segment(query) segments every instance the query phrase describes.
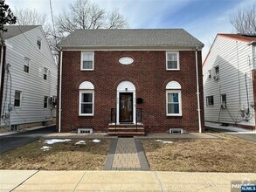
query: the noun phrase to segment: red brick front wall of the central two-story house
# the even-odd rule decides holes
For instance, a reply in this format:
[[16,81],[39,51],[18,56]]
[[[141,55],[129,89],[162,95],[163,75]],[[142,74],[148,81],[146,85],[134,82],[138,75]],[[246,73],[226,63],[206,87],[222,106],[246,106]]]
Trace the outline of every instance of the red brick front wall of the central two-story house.
[[[134,59],[121,65],[119,58]],[[121,81],[135,85],[136,98],[142,98],[142,123],[146,132],[166,132],[181,127],[198,132],[195,51],[179,51],[179,71],[166,70],[166,51],[94,51],[94,70],[80,71],[81,51],[63,51],[61,132],[93,128],[107,132],[111,108],[116,107],[116,88]],[[201,122],[204,131],[203,79],[201,51],[198,51]],[[166,115],[166,85],[175,80],[182,86],[182,116]],[[79,116],[79,86],[94,86],[94,115]],[[59,116],[59,115],[58,115]],[[57,125],[58,127],[59,125]]]

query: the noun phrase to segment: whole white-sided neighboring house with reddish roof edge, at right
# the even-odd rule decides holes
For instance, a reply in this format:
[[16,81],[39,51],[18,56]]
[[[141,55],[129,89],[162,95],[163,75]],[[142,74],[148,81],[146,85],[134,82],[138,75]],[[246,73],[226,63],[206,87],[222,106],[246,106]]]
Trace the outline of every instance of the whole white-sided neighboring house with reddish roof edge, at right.
[[205,125],[255,129],[256,36],[218,34],[204,60]]

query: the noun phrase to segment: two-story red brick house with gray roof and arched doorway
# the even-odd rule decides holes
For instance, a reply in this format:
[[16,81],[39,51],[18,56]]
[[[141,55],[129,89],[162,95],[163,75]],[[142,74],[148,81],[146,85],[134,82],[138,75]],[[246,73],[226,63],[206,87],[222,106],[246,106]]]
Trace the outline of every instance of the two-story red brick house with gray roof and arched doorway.
[[203,46],[182,29],[73,31],[59,43],[59,132],[204,130]]

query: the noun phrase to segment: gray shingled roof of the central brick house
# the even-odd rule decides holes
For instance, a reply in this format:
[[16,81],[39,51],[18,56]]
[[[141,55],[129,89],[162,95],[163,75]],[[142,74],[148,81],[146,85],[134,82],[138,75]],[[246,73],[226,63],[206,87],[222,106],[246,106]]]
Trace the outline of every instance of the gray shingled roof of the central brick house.
[[198,46],[204,44],[183,29],[75,30],[59,42],[75,46]]

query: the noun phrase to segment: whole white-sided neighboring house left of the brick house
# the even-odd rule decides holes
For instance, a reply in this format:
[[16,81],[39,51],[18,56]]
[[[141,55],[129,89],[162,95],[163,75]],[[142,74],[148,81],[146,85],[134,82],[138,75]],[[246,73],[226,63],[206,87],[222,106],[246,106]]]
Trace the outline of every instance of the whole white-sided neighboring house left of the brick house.
[[17,130],[55,123],[58,70],[42,26],[5,27],[1,128]]

